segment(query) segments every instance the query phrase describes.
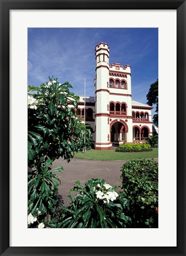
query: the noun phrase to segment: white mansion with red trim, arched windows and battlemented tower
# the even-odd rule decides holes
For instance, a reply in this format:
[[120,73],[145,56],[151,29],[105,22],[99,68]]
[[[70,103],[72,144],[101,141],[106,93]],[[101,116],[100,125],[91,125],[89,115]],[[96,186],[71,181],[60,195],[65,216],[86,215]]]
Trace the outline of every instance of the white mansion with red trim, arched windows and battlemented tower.
[[152,135],[152,107],[132,100],[130,66],[110,65],[107,43],[97,44],[95,57],[95,95],[80,96],[76,113],[92,127],[94,149],[145,142]]

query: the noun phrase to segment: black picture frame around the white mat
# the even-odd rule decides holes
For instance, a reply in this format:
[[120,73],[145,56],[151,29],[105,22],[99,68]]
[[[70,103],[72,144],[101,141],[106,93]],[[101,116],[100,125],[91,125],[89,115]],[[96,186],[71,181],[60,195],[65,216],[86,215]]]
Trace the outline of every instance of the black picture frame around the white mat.
[[[185,76],[186,2],[183,0],[0,0],[0,254],[1,255],[172,255],[185,254]],[[176,9],[177,10],[177,247],[9,247],[9,10]],[[171,72],[170,72],[171,73]],[[167,85],[168,86],[168,85]],[[170,120],[171,121],[171,120]],[[171,161],[171,160],[170,160]],[[171,214],[171,206],[170,211]],[[171,225],[171,223],[170,223]]]

